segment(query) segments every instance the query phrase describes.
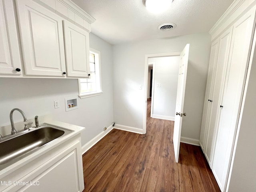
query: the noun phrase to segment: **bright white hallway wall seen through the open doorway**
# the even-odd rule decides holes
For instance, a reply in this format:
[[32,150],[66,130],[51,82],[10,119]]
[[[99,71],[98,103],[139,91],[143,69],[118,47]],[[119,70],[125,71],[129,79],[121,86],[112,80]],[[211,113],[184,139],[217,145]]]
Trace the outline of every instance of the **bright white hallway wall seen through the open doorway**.
[[180,57],[149,58],[148,62],[155,63],[152,117],[174,120]]

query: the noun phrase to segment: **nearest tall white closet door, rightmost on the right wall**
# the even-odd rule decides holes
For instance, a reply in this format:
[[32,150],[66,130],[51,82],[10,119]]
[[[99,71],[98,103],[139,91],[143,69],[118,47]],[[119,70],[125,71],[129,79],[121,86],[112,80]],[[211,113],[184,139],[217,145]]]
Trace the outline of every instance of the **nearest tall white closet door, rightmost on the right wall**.
[[255,7],[242,16],[232,32],[231,49],[222,98],[212,172],[224,191],[240,114],[244,81],[255,23]]

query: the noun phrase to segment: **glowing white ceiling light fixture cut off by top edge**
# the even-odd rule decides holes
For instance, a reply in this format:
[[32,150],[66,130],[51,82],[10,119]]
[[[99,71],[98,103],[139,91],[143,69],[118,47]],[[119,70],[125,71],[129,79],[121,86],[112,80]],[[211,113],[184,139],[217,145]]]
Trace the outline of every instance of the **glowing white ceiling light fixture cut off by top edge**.
[[152,13],[161,13],[167,10],[173,0],[144,0],[146,8]]

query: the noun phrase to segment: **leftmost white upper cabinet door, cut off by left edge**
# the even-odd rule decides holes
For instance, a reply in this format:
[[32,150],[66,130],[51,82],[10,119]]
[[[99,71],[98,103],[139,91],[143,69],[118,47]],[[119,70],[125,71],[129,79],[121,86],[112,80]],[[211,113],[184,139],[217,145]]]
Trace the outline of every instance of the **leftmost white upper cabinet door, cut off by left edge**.
[[13,2],[0,0],[0,74],[21,74],[15,23]]

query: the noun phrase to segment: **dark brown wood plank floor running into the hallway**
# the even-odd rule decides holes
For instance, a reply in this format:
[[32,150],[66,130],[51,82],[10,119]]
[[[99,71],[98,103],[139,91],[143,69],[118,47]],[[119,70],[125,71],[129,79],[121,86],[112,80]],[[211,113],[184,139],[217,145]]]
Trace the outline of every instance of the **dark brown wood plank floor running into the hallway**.
[[172,143],[174,122],[150,118],[147,133],[112,130],[83,155],[83,192],[219,192],[198,146]]

